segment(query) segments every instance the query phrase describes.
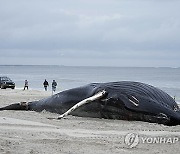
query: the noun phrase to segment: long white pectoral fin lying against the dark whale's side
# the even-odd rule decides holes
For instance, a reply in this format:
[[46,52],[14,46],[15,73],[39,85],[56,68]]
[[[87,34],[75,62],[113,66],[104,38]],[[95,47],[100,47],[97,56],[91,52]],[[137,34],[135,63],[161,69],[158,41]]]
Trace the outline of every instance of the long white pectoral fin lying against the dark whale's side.
[[67,116],[68,114],[70,114],[71,112],[73,112],[74,110],[76,110],[77,108],[79,108],[80,106],[82,106],[84,104],[87,104],[87,103],[93,102],[95,100],[101,99],[106,94],[107,94],[107,92],[105,90],[102,90],[102,91],[96,93],[95,95],[80,101],[79,103],[77,103],[76,105],[71,107],[68,111],[66,111],[64,114],[60,115],[57,119],[61,119],[65,116]]

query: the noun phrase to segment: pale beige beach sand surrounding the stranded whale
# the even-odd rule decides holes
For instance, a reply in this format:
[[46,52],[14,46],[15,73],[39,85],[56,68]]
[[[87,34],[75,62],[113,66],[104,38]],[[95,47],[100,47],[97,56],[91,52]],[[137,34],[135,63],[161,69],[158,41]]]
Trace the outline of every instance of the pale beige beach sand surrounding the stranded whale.
[[[0,89],[0,106],[50,95]],[[180,153],[180,126],[74,116],[48,119],[57,116],[49,112],[0,111],[0,154]]]

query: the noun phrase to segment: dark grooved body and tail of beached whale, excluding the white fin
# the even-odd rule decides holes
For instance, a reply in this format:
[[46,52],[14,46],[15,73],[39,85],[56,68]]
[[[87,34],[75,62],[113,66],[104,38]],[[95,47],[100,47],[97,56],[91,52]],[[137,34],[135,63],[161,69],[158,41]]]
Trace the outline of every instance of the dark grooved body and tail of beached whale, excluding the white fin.
[[136,120],[164,125],[180,124],[180,109],[175,100],[162,90],[151,85],[120,81],[91,83],[86,86],[62,91],[51,97],[28,102],[16,103],[0,110],[43,110],[63,114],[78,102],[99,91],[106,95],[96,101],[83,105],[71,114],[81,117]]

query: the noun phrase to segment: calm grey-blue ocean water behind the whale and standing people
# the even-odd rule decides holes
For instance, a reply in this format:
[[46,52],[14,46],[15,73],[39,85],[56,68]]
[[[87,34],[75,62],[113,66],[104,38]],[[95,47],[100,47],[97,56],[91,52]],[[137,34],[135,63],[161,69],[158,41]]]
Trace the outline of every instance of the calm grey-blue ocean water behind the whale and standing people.
[[27,79],[30,89],[36,90],[44,90],[45,79],[50,85],[55,79],[57,91],[92,82],[139,81],[158,87],[180,101],[180,68],[0,65],[0,76],[10,77],[18,89],[23,88]]

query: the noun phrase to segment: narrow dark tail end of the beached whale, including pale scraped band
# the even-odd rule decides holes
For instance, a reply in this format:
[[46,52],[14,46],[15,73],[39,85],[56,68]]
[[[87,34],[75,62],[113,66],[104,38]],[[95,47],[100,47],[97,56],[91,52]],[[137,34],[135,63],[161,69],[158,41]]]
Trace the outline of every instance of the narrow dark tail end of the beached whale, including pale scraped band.
[[28,103],[20,102],[20,103],[11,104],[11,105],[0,108],[0,111],[3,111],[3,110],[28,110]]

